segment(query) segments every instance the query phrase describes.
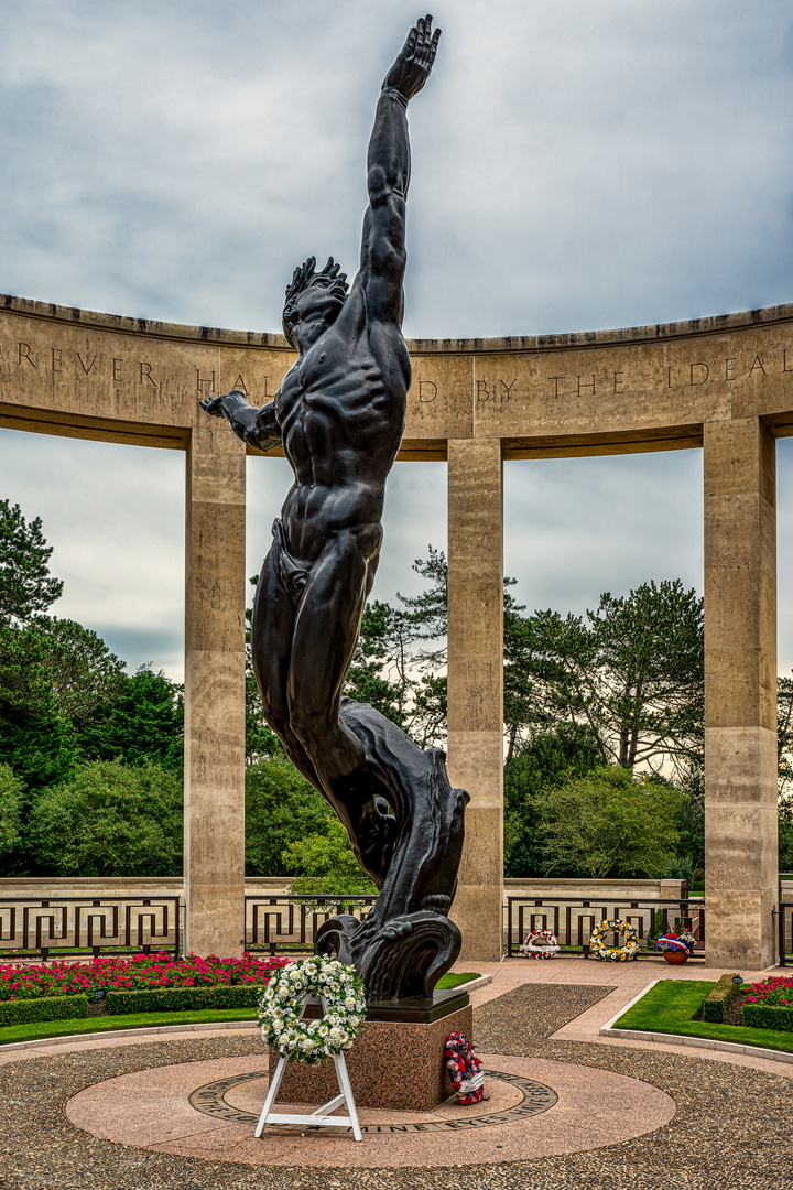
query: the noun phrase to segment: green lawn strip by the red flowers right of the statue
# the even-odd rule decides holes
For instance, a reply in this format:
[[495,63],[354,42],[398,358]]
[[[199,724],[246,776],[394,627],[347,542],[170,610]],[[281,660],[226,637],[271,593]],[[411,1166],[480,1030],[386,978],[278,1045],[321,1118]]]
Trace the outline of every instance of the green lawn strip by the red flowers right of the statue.
[[616,1029],[643,1029],[648,1033],[674,1033],[679,1036],[712,1038],[764,1050],[793,1053],[793,1035],[779,1029],[750,1029],[742,1025],[715,1025],[696,1021],[694,1014],[715,983],[700,979],[661,979],[637,1004],[615,1021]]

